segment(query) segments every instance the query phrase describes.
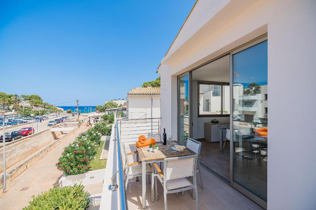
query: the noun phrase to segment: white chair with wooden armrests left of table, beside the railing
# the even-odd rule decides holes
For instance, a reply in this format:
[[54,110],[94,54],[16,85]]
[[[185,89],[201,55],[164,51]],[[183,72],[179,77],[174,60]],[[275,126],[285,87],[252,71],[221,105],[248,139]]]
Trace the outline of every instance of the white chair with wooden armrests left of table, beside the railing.
[[[125,188],[126,188],[129,179],[142,176],[142,162],[140,161],[140,162],[129,163],[128,156],[134,155],[134,154],[138,155],[138,152],[135,151],[135,152],[126,153],[124,143],[122,143],[122,150],[125,155],[125,175],[126,175]],[[146,164],[146,175],[148,175],[148,180],[150,183],[149,176],[151,175],[151,165],[149,163]]]

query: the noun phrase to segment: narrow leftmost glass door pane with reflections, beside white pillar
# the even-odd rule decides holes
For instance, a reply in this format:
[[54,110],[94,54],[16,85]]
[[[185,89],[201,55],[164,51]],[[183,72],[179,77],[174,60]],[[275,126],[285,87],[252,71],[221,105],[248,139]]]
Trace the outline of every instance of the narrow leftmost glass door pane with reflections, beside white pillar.
[[179,78],[178,91],[179,107],[179,142],[186,145],[186,140],[189,137],[189,75]]

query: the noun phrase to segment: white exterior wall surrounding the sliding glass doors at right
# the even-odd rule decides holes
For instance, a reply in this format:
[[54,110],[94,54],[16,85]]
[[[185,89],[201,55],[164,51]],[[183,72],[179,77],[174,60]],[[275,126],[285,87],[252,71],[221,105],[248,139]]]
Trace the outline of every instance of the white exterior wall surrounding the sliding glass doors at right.
[[[316,208],[316,141],[306,132],[316,116],[315,8],[313,0],[199,0],[158,69],[161,126],[177,136],[177,75],[268,33],[269,209]],[[304,91],[285,88],[294,83]]]

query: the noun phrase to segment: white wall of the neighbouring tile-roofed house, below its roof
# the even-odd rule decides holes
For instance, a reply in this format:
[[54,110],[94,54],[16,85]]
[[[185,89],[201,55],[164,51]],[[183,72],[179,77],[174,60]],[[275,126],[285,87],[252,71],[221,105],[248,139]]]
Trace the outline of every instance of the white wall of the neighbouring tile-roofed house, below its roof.
[[[153,118],[160,117],[160,95],[153,97]],[[129,118],[151,118],[151,97],[150,95],[128,95],[128,116]]]

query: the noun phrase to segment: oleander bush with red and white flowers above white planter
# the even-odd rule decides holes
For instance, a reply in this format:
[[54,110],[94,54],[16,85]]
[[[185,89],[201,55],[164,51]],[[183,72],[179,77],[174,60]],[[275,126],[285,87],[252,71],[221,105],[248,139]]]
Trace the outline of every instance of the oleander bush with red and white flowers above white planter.
[[76,140],[64,148],[56,163],[57,169],[65,175],[76,175],[91,170],[90,162],[97,154],[101,133],[94,129],[80,133]]

